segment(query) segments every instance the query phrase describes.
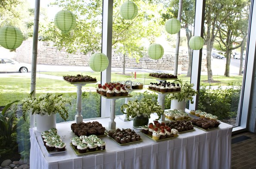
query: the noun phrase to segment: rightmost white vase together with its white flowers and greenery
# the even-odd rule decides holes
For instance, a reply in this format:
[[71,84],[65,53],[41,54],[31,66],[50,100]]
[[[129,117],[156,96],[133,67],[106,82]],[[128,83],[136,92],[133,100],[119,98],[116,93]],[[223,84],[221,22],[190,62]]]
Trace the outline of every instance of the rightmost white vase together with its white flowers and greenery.
[[190,100],[190,103],[194,103],[193,96],[196,96],[198,92],[193,89],[194,84],[185,82],[182,83],[182,80],[178,79],[174,82],[181,84],[181,91],[179,93],[169,94],[169,99],[171,101],[171,109],[182,109],[185,111],[186,102]]

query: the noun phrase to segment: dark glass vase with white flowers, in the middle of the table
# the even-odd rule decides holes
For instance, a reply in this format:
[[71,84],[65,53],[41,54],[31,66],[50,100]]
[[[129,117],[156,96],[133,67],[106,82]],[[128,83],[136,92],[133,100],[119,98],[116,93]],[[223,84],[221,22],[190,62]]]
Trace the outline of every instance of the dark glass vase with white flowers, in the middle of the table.
[[140,129],[142,126],[147,125],[151,113],[156,113],[159,118],[164,113],[161,106],[157,102],[153,102],[150,98],[144,98],[140,101],[137,99],[134,101],[130,100],[127,104],[121,106],[121,111],[127,117],[134,118],[133,127],[135,129]]

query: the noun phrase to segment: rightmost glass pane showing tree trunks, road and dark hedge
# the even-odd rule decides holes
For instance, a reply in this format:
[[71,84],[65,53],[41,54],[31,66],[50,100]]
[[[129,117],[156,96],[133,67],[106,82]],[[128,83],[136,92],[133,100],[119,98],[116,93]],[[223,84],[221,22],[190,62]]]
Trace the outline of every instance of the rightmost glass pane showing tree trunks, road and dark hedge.
[[239,121],[249,7],[240,0],[206,1],[198,109],[233,126]]

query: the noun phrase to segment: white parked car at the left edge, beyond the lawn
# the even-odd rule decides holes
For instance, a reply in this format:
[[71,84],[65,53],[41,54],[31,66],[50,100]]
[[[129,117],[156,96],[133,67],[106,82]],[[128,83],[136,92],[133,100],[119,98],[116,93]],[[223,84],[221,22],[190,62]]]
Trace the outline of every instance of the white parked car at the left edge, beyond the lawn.
[[31,64],[19,63],[16,60],[0,58],[0,72],[21,72],[31,71]]

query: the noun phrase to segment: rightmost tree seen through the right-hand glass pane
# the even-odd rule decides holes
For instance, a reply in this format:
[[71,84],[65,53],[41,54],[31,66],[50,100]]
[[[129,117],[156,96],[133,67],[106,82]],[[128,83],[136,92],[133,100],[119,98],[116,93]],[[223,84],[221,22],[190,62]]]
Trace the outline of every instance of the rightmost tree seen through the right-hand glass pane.
[[[231,15],[228,15],[228,18],[226,18],[225,21],[222,22],[221,28],[219,29],[219,39],[216,39],[219,43],[222,42],[222,44],[225,46],[225,49],[222,48],[223,51],[226,51],[226,67],[225,67],[225,76],[229,77],[229,70],[230,70],[230,60],[231,60],[231,53],[232,50],[240,48],[243,45],[245,45],[245,39],[247,36],[247,31],[245,30],[244,26],[247,26],[248,24],[245,24],[244,21],[248,21],[248,13],[244,14],[245,17],[242,18],[242,12],[243,10],[249,5],[247,0],[236,0],[235,2],[236,6],[234,6],[233,10],[230,11],[232,13]],[[247,17],[246,17],[247,15]],[[244,24],[241,26],[241,24]],[[241,30],[241,31],[239,31]],[[240,36],[243,35],[243,36]],[[233,44],[237,42],[238,39],[241,39],[240,44],[233,47]],[[220,45],[222,46],[222,45]],[[244,52],[244,51],[243,51]],[[243,54],[241,53],[240,59],[243,63]]]

